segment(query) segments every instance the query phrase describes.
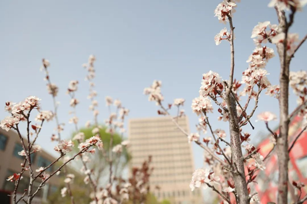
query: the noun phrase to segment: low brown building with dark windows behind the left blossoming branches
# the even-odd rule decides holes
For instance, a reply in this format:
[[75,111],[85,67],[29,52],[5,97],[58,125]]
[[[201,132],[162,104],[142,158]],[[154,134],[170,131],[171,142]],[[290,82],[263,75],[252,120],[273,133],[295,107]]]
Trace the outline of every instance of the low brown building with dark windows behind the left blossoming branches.
[[[1,203],[11,203],[11,197],[8,194],[11,194],[14,191],[14,182],[7,181],[7,178],[13,173],[20,173],[21,166],[20,164],[24,162],[23,156],[18,155],[18,152],[23,150],[21,146],[19,136],[15,131],[8,131],[0,129],[0,200]],[[51,164],[55,158],[49,155],[46,151],[40,150],[35,154],[31,155],[31,161],[34,169],[39,167],[46,167]],[[53,170],[57,168],[57,165],[52,166],[47,169],[47,173],[52,173]],[[28,188],[29,184],[29,172],[23,174],[23,179],[20,180],[18,189],[17,189],[17,199],[20,197],[24,190]],[[34,190],[39,186],[40,181],[34,182]],[[47,201],[49,195],[57,191],[60,184],[59,176],[52,176],[48,183],[40,190],[33,203],[42,203],[42,201]]]

